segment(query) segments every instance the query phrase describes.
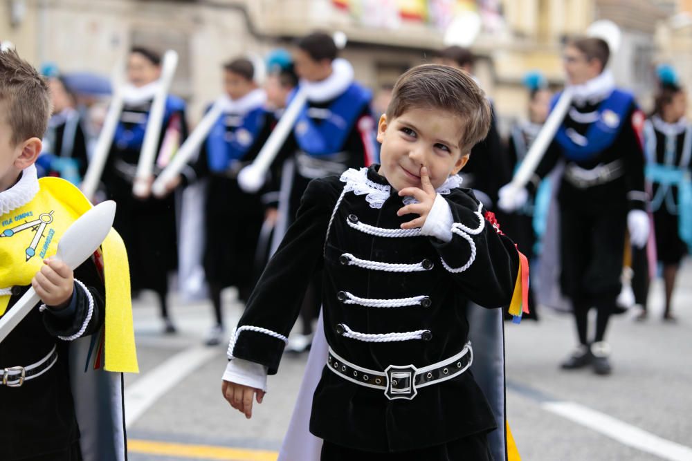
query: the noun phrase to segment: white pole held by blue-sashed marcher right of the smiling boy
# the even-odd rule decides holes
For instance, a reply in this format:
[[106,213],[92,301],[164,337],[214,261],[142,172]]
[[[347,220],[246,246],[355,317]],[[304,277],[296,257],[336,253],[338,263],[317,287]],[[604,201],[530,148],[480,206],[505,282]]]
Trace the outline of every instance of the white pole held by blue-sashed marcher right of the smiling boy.
[[550,142],[552,142],[557,133],[558,128],[562,124],[565,115],[567,114],[567,109],[570,109],[570,104],[572,103],[572,90],[567,87],[560,95],[560,99],[555,104],[555,107],[548,115],[543,128],[538,132],[534,144],[531,144],[531,148],[527,152],[521,166],[514,174],[510,184],[515,190],[522,189],[533,176],[536,167],[543,158],[545,151],[548,149]]

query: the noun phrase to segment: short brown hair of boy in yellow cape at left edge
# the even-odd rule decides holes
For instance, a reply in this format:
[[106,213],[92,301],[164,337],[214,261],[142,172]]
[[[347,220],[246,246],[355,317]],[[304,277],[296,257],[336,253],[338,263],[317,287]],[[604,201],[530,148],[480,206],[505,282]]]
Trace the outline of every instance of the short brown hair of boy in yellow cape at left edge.
[[0,50],[0,104],[0,117],[12,130],[12,144],[43,137],[51,117],[48,84],[12,49]]

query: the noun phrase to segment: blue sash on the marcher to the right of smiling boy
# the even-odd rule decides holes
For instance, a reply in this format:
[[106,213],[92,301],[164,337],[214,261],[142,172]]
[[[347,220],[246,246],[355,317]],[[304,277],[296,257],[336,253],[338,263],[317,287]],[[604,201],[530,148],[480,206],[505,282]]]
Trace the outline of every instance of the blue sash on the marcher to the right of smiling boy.
[[[551,110],[560,97],[558,93],[551,102]],[[608,98],[599,105],[599,119],[592,123],[586,131],[586,144],[580,145],[567,135],[567,127],[561,125],[555,135],[555,140],[562,147],[563,155],[570,160],[588,160],[597,156],[615,142],[634,97],[625,91],[614,90]]]

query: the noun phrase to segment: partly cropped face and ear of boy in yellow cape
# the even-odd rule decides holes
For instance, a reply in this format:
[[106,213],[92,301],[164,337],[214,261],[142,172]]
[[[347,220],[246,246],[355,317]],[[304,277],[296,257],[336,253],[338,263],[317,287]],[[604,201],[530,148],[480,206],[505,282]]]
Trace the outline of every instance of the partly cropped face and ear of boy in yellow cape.
[[41,152],[41,140],[38,138],[16,145],[12,142],[12,128],[6,114],[6,103],[0,102],[0,192],[15,185],[21,170],[33,164]]

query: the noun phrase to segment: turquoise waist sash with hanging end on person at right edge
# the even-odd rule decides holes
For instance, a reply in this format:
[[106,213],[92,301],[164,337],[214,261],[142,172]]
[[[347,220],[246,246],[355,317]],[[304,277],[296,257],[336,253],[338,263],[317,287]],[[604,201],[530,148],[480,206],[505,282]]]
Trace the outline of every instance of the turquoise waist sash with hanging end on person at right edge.
[[646,178],[665,187],[677,187],[677,232],[680,240],[692,248],[692,180],[689,171],[650,163],[646,165]]

